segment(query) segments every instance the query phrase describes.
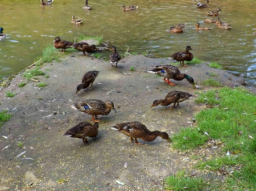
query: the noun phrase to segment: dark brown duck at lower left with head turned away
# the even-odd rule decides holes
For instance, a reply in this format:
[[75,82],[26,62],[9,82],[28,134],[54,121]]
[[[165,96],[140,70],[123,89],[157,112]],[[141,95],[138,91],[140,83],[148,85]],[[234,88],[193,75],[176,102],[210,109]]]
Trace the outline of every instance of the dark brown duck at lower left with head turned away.
[[98,122],[90,124],[89,122],[80,122],[73,128],[66,131],[64,136],[69,136],[72,138],[82,139],[84,144],[89,143],[86,137],[97,137],[98,135]]

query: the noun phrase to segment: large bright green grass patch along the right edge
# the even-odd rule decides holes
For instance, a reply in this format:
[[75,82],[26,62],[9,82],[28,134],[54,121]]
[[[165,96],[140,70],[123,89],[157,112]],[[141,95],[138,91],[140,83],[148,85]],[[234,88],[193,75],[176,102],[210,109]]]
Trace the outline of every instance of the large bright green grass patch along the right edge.
[[[175,134],[172,138],[172,146],[179,150],[196,148],[205,144],[209,137],[222,142],[218,146],[221,148],[218,152],[222,152],[222,155],[213,153],[212,158],[201,160],[196,168],[204,169],[205,165],[209,165],[212,167],[208,168],[210,171],[217,171],[222,167],[233,169],[232,175],[226,175],[226,180],[222,182],[221,186],[225,188],[222,190],[253,190],[256,182],[256,109],[254,104],[256,96],[243,88],[223,87],[200,93],[197,101],[212,102],[213,108],[197,113],[194,117],[197,125],[193,128],[182,129],[180,133]],[[238,134],[239,131],[243,133]],[[205,135],[205,132],[209,134],[209,137]],[[254,139],[250,139],[248,135],[253,136]],[[231,154],[229,157],[226,156],[227,151]],[[240,171],[232,168],[241,164],[243,166]],[[167,179],[173,180],[171,183],[166,180],[168,186],[185,181],[181,176],[172,176]],[[200,181],[195,183],[195,179],[188,179],[186,179],[187,185],[199,184],[198,188],[201,188],[201,184],[208,182],[204,180],[203,183]],[[218,186],[215,181],[212,184]],[[234,185],[237,187],[234,188]],[[179,189],[175,187],[174,190]],[[191,187],[185,190],[197,190],[197,188]],[[205,189],[201,188],[201,190]]]

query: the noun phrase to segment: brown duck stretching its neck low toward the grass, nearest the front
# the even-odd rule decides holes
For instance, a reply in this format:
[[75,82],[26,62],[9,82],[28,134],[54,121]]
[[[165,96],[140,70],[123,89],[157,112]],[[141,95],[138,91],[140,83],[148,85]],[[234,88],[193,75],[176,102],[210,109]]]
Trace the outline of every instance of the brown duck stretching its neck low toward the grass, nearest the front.
[[161,137],[162,139],[166,139],[169,142],[172,142],[169,138],[169,135],[166,132],[162,131],[150,131],[147,127],[138,121],[126,122],[122,124],[116,124],[112,127],[114,130],[118,130],[121,133],[130,137],[131,142],[142,145],[143,143],[139,143],[137,138],[142,139],[143,141],[154,141],[156,137]]

